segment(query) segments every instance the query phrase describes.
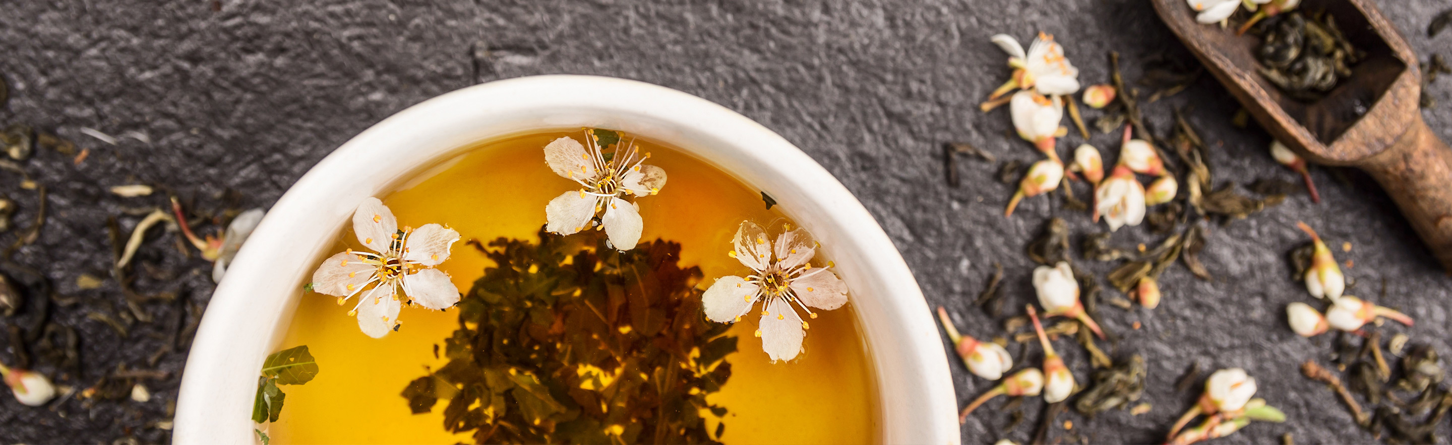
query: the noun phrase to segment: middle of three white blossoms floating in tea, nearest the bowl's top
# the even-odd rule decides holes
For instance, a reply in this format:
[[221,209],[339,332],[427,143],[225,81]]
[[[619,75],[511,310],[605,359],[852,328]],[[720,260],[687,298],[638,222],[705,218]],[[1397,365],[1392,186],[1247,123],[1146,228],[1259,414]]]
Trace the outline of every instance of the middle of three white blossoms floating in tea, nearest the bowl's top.
[[[627,196],[650,196],[665,187],[665,170],[645,165],[650,154],[640,155],[635,144],[616,148],[611,157],[591,142],[563,136],[544,145],[544,161],[555,174],[579,183],[582,188],[565,191],[544,206],[546,230],[574,235],[585,228],[604,229],[610,245],[629,251],[640,242],[640,206]],[[601,215],[603,212],[603,215]],[[600,222],[595,223],[595,216]]]

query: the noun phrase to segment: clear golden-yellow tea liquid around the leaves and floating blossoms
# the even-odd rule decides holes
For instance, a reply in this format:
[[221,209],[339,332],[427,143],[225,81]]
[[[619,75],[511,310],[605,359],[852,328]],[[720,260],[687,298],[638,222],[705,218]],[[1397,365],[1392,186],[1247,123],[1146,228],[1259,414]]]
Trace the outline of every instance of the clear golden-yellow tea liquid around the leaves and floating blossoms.
[[[486,142],[449,159],[383,197],[399,226],[444,223],[462,238],[439,268],[468,293],[485,267],[495,264],[469,239],[505,236],[537,242],[544,204],[576,183],[550,171],[543,146],[559,136],[584,141],[584,132],[553,132]],[[627,136],[629,138],[629,136]],[[658,238],[681,244],[681,267],[700,267],[706,288],[714,278],[749,270],[726,255],[743,219],[764,226],[783,219],[767,210],[758,190],[687,154],[636,141],[652,154],[649,164],[668,172],[659,194],[637,197],[645,220],[642,245]],[[772,235],[775,229],[772,229]],[[346,230],[335,249],[357,248]],[[831,249],[831,246],[823,246]],[[333,254],[330,251],[328,254]],[[823,264],[819,257],[813,264]],[[299,284],[301,286],[301,284]],[[865,342],[848,304],[819,310],[810,320],[804,354],[791,362],[770,362],[748,315],[729,335],[739,339],[727,355],[732,375],[707,397],[727,409],[725,417],[704,415],[707,431],[726,426],[726,444],[868,444],[877,442],[877,394]],[[758,304],[759,306],[759,304]],[[315,293],[302,296],[289,332],[277,348],[308,345],[321,371],[305,386],[285,386],[286,404],[269,429],[274,444],[454,444],[469,433],[443,426],[441,400],[430,413],[412,415],[405,386],[447,362],[443,341],[459,329],[457,312],[404,307],[401,328],[385,338],[362,333],[348,306]],[[758,307],[759,310],[759,307]],[[436,349],[437,348],[437,349]],[[437,355],[436,355],[437,354]],[[713,433],[714,436],[714,433]]]

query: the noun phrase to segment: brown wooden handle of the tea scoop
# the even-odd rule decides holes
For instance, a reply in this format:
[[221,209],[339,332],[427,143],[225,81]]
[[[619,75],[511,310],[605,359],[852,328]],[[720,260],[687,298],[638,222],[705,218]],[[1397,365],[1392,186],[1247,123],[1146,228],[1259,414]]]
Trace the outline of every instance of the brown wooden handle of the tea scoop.
[[1381,183],[1432,255],[1452,274],[1452,148],[1437,139],[1420,113],[1414,119],[1397,142],[1361,168]]

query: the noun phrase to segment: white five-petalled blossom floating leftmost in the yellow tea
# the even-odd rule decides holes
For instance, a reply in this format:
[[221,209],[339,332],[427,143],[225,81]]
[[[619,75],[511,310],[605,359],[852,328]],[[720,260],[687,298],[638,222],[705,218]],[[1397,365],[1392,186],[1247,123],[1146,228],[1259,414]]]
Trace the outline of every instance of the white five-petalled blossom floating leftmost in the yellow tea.
[[393,212],[376,197],[359,204],[353,232],[369,251],[347,249],[328,257],[312,273],[312,290],[337,296],[338,306],[359,296],[348,316],[359,317],[363,333],[382,338],[396,329],[404,299],[433,310],[459,303],[459,288],[434,268],[449,259],[459,232],[434,223],[399,230]]

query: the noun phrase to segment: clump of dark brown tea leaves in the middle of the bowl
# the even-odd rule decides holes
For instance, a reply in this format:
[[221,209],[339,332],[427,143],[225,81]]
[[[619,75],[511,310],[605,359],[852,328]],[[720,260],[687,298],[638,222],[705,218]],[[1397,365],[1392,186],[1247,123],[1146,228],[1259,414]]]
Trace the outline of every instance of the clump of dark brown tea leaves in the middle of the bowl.
[[716,444],[700,413],[726,415],[706,397],[736,338],[703,317],[681,245],[539,236],[470,242],[498,265],[459,301],[449,364],[404,390],[412,412],[447,399],[444,428],[479,444]]

